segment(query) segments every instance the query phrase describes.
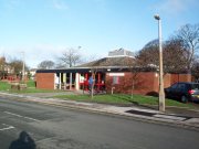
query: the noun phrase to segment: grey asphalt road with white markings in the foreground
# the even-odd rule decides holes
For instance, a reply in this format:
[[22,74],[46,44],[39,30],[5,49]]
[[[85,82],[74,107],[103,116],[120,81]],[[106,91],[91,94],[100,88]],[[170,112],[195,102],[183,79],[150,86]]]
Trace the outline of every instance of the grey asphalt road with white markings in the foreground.
[[198,149],[199,131],[0,97],[0,149]]

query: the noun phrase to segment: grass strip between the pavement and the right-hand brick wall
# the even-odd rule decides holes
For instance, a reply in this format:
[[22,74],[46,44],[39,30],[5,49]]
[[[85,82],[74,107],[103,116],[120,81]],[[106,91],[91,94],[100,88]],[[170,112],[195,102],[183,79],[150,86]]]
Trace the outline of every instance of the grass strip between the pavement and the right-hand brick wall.
[[[95,95],[93,99],[88,95],[59,95],[54,96],[62,99],[72,99],[80,102],[95,102],[95,103],[107,103],[107,104],[134,104],[134,105],[158,105],[158,97],[144,96],[144,95],[134,95],[130,98],[130,95],[126,94],[114,94],[114,95]],[[198,108],[190,104],[184,104],[172,99],[166,99],[166,106],[176,106],[176,107],[187,107],[187,108]]]

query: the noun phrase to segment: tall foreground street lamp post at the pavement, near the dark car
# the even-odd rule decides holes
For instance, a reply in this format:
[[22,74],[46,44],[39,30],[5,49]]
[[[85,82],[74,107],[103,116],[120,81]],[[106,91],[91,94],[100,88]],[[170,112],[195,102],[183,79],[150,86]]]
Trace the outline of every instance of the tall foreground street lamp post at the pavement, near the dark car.
[[163,46],[161,46],[161,19],[158,14],[154,15],[158,21],[158,39],[159,39],[159,110],[165,111],[165,92],[163,78]]

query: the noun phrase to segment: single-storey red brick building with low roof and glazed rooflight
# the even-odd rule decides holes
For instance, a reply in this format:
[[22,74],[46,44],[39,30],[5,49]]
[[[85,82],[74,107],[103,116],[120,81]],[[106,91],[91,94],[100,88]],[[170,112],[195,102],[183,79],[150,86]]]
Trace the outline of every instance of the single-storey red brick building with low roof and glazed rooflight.
[[[133,53],[123,49],[109,52],[107,57],[63,70],[38,70],[36,87],[46,89],[88,89],[88,78],[95,75],[95,88],[107,93],[130,93],[151,95],[159,89],[157,71],[133,68],[127,61],[133,61]],[[190,82],[189,74],[166,74],[165,87],[176,82]]]

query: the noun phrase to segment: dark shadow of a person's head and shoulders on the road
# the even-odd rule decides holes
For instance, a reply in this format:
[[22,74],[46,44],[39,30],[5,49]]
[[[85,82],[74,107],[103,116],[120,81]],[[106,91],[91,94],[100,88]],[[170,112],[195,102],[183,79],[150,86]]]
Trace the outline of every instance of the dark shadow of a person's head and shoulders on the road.
[[36,149],[36,145],[28,132],[21,131],[19,138],[10,143],[9,149]]

